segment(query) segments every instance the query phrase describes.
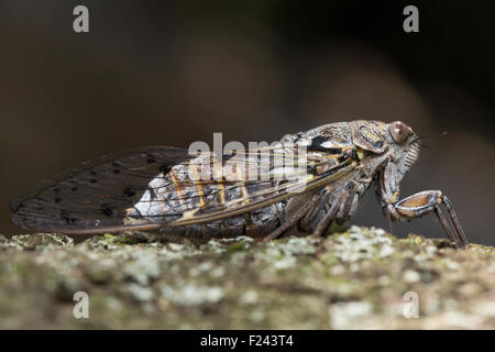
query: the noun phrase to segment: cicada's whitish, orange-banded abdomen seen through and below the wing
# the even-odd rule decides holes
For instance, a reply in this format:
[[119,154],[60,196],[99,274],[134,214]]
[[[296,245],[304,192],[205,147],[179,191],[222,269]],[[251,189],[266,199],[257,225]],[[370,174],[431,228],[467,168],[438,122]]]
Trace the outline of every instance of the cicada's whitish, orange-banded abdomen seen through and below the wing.
[[[270,190],[275,184],[256,182],[239,187],[232,175],[229,175],[230,182],[204,182],[198,177],[201,172],[199,168],[196,173],[191,173],[197,164],[199,163],[191,162],[176,165],[167,174],[161,173],[152,179],[141,199],[128,209],[124,223],[173,222],[187,218],[188,213],[205,209],[206,205],[216,209],[229,209],[239,206],[240,202],[248,204],[255,200],[252,195]],[[242,165],[229,166],[230,172],[238,170],[239,182],[245,180],[245,175],[239,172]],[[211,170],[211,174],[215,177],[215,170]],[[285,204],[280,201],[243,215],[205,223],[166,227],[163,232],[194,238],[265,237],[279,226]]]

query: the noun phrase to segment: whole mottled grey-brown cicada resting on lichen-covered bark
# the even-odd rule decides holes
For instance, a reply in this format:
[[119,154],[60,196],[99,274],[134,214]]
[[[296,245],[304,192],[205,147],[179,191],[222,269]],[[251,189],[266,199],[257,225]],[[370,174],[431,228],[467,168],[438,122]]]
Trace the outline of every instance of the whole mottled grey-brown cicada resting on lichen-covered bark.
[[[332,222],[349,220],[374,185],[389,231],[393,221],[433,212],[449,240],[466,246],[452,204],[440,190],[399,199],[400,180],[420,146],[421,139],[400,121],[358,120],[224,155],[138,147],[41,182],[10,207],[14,223],[44,232],[160,230],[202,239],[272,240],[294,228],[323,235]],[[264,156],[268,162],[262,162]],[[298,167],[286,166],[294,160]],[[262,177],[249,177],[252,172]]]

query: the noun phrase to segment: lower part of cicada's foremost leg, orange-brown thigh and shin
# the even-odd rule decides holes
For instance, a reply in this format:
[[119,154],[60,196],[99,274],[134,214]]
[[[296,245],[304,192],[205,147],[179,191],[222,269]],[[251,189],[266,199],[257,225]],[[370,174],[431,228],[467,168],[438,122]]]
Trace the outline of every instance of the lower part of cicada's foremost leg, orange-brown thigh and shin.
[[415,219],[422,217],[429,212],[435,212],[437,218],[440,220],[440,223],[442,224],[442,228],[446,231],[449,240],[455,242],[455,238],[447,222],[443,212],[440,209],[440,205],[443,205],[447,208],[447,212],[449,215],[451,223],[453,224],[457,239],[463,248],[466,248],[469,244],[468,239],[465,238],[458,216],[453,210],[452,204],[450,202],[449,198],[442,195],[440,190],[425,190],[417,193],[397,202],[388,204],[386,210],[394,219],[397,220]]

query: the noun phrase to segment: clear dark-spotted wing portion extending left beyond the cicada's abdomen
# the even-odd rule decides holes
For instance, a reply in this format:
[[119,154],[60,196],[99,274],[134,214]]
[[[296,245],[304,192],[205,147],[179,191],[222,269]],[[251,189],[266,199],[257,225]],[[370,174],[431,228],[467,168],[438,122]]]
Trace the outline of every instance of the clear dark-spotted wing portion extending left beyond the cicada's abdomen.
[[46,232],[95,232],[121,228],[128,208],[148,183],[190,160],[187,150],[138,147],[86,162],[45,179],[13,199],[12,220],[21,228]]

